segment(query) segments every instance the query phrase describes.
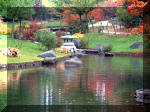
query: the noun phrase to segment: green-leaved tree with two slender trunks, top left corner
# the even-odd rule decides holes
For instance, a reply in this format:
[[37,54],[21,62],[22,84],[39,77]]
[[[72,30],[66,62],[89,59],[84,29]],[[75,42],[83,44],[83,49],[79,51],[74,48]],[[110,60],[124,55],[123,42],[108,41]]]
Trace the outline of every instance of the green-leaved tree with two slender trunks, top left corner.
[[[0,15],[4,18],[12,20],[12,38],[14,38],[14,26],[15,20],[21,20],[29,14],[29,9],[27,7],[33,7],[33,0],[1,0],[0,1]],[[24,9],[26,8],[26,9]],[[21,29],[20,29],[21,30]]]

